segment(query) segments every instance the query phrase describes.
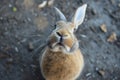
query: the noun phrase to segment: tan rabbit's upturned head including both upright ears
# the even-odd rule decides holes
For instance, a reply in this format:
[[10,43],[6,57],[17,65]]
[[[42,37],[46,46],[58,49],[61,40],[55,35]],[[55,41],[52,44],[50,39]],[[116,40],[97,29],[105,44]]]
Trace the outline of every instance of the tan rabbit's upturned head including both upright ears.
[[48,38],[50,50],[54,52],[70,53],[78,49],[79,43],[74,32],[85,18],[86,7],[86,4],[79,7],[71,22],[67,22],[64,14],[58,8],[55,8],[60,20],[56,22],[56,28]]

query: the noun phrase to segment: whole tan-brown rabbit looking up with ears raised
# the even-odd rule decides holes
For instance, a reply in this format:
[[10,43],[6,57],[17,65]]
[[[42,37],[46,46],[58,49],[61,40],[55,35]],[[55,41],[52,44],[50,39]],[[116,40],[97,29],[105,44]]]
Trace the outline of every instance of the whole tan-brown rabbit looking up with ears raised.
[[40,60],[41,73],[45,80],[76,80],[84,67],[84,58],[74,32],[85,18],[87,4],[80,6],[71,22],[55,7],[60,20],[48,37]]

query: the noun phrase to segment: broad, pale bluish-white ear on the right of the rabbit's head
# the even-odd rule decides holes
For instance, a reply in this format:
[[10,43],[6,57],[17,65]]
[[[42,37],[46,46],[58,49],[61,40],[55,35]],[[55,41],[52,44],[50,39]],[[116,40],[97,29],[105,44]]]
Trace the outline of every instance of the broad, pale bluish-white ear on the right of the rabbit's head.
[[78,28],[80,24],[82,24],[85,13],[86,13],[87,4],[84,4],[83,6],[80,6],[73,17],[73,23],[75,24],[75,30]]

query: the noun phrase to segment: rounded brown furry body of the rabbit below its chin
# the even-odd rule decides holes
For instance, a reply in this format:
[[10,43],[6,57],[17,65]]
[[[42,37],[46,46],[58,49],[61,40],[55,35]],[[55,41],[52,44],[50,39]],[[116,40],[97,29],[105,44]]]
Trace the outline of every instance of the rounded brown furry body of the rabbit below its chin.
[[72,54],[52,52],[49,48],[42,57],[42,73],[46,80],[75,80],[84,66],[80,50]]

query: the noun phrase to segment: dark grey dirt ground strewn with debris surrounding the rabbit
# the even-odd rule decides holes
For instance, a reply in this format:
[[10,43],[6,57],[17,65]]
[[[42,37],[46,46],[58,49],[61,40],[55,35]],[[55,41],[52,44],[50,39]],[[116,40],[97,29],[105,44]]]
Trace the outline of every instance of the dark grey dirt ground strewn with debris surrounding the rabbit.
[[[120,0],[0,0],[0,80],[44,80],[39,56],[56,22],[54,6],[68,18],[88,4],[84,23],[76,32],[85,67],[78,80],[120,80]],[[107,31],[100,29],[105,25]],[[112,33],[116,39],[107,39]]]

